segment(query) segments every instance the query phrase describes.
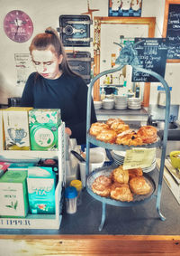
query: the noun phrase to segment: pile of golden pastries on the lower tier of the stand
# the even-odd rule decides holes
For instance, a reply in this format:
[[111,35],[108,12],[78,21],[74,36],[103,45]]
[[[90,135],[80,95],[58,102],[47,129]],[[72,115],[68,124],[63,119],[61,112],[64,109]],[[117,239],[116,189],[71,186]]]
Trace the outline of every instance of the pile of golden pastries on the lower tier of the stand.
[[95,194],[121,202],[133,201],[135,194],[146,195],[151,191],[141,168],[124,170],[123,166],[113,169],[108,176],[96,177],[91,188]]

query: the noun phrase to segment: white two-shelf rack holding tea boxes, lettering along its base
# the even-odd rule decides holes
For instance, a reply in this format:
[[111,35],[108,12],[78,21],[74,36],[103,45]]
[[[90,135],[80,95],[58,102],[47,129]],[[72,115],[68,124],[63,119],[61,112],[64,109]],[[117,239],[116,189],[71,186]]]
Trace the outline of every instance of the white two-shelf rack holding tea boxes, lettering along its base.
[[58,160],[58,184],[55,190],[56,211],[55,214],[31,214],[25,218],[0,217],[2,229],[59,229],[61,213],[62,187],[66,180],[66,139],[65,124],[58,128],[58,151],[35,151],[35,150],[4,150],[4,135],[2,111],[0,111],[0,161],[11,162],[38,162],[40,159],[54,158]]

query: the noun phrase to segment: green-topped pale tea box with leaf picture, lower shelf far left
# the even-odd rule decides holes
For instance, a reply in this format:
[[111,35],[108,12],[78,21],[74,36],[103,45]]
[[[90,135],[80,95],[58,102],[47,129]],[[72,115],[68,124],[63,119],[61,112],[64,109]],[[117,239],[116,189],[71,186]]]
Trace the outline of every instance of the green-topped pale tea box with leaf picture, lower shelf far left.
[[7,171],[0,178],[0,216],[25,217],[29,211],[27,171]]

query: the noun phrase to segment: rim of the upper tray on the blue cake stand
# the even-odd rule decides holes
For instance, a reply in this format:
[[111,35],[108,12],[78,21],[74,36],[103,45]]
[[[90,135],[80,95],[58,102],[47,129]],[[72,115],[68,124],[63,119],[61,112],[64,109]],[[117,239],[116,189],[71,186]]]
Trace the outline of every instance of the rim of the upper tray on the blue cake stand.
[[94,136],[90,135],[89,133],[87,134],[87,138],[88,141],[98,147],[105,147],[108,149],[114,149],[114,150],[127,150],[130,149],[132,147],[148,147],[148,148],[152,148],[152,147],[159,147],[162,142],[160,137],[157,137],[157,141],[155,143],[150,143],[150,144],[143,144],[143,145],[138,145],[138,146],[127,146],[127,145],[119,145],[119,144],[115,144],[115,143],[106,143],[103,142],[101,140],[97,140]]

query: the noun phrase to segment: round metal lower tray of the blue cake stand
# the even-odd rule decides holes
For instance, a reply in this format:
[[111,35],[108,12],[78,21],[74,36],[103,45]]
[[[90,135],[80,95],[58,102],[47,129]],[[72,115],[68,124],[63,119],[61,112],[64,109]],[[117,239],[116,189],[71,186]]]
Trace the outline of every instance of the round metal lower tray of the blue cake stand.
[[101,167],[98,169],[95,169],[90,175],[88,175],[86,179],[86,190],[88,194],[91,194],[96,200],[101,201],[105,204],[112,204],[116,206],[132,206],[135,204],[142,204],[145,203],[145,201],[148,201],[154,194],[156,190],[156,185],[154,180],[147,174],[143,174],[144,178],[148,182],[148,185],[150,185],[151,190],[148,194],[133,194],[133,201],[131,202],[121,202],[118,200],[111,199],[110,197],[103,197],[101,195],[95,194],[92,191],[92,185],[94,183],[94,179],[97,178],[100,175],[106,175],[109,176],[112,173],[112,170],[114,169],[114,166],[106,166]]

